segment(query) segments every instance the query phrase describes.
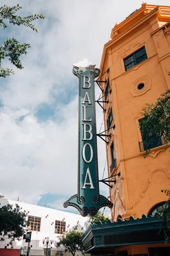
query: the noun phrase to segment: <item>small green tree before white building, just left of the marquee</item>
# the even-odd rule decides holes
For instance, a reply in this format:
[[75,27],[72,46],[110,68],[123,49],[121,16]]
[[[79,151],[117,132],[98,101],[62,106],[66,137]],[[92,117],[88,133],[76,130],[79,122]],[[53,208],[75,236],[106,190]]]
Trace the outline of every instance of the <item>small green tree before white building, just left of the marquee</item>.
[[56,243],[56,247],[64,245],[73,256],[76,251],[83,253],[82,233],[76,230],[77,226],[73,227],[73,230],[67,231],[65,236],[59,236],[59,242]]

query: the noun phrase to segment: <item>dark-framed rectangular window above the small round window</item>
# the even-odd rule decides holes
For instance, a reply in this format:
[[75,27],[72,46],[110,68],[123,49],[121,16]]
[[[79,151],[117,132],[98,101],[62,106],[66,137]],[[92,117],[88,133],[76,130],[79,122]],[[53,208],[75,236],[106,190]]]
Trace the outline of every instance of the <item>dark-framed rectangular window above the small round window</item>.
[[142,61],[147,59],[147,52],[145,47],[141,47],[137,51],[133,52],[131,55],[124,58],[125,71],[130,70]]

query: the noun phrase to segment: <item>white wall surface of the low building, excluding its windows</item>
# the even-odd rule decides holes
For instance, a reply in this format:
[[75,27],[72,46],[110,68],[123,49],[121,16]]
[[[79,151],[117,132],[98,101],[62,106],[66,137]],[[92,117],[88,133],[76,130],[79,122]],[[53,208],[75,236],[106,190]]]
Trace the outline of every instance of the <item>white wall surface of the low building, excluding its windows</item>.
[[[74,214],[71,212],[64,212],[56,209],[51,209],[47,207],[41,207],[33,204],[26,204],[23,202],[7,200],[5,198],[0,198],[0,207],[6,204],[18,204],[22,207],[22,210],[26,210],[26,214],[41,217],[41,226],[40,232],[32,231],[31,234],[31,255],[43,255],[43,248],[45,248],[42,244],[42,239],[45,239],[47,236],[50,237],[50,240],[53,239],[54,242],[51,245],[51,255],[55,255],[57,250],[65,251],[65,248],[55,247],[55,241],[57,241],[57,237],[61,236],[59,234],[54,233],[55,228],[55,220],[65,221],[66,222],[66,231],[71,229],[73,226],[77,225],[77,231],[84,233],[87,225],[88,218],[82,217],[79,214]],[[5,241],[0,241],[0,248],[5,248],[9,243],[10,239],[5,238]],[[28,243],[25,240],[14,241],[14,249],[20,249],[20,247],[28,246]],[[7,246],[8,249],[11,246]],[[71,255],[70,253],[64,252],[65,255]],[[77,253],[77,255],[82,255],[82,253]]]

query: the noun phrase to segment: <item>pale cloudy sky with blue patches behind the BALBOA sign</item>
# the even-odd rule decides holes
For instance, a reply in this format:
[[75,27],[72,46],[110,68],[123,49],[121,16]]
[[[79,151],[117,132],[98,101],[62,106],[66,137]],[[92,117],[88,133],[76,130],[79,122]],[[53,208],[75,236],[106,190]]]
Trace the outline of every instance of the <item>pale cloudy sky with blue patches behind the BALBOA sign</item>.
[[[99,68],[111,29],[142,5],[140,0],[6,0],[22,6],[20,16],[43,14],[38,33],[25,26],[1,29],[6,38],[29,43],[23,70],[8,60],[14,76],[0,78],[0,193],[5,198],[77,213],[63,203],[77,194],[78,79],[72,64],[88,58]],[[169,0],[149,4],[169,5]],[[101,93],[96,87],[96,99]],[[97,132],[103,113],[96,105]],[[102,126],[101,131],[104,131]],[[105,143],[97,139],[99,179],[105,167]],[[108,177],[107,164],[104,177]],[[100,184],[108,197],[108,186]],[[109,213],[110,210],[105,210]]]

